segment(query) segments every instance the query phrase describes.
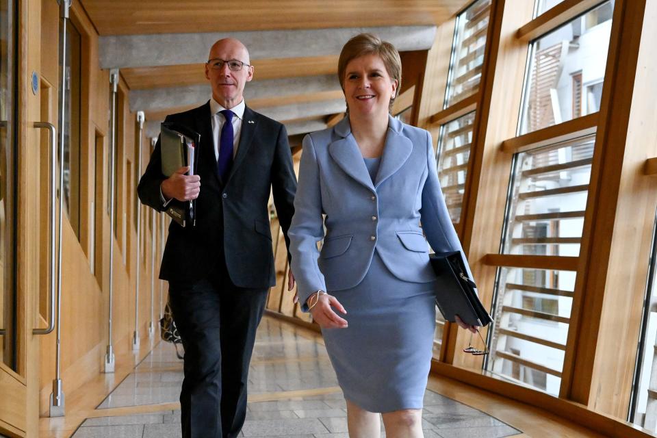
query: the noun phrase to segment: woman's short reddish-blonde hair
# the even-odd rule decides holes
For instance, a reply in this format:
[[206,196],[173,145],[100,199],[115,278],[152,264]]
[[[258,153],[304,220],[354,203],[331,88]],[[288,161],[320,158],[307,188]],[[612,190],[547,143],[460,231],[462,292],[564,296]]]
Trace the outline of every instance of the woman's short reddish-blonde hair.
[[390,108],[392,108],[392,104],[399,94],[399,89],[402,85],[402,60],[394,45],[387,41],[382,41],[378,36],[373,34],[359,34],[344,44],[337,62],[337,79],[339,79],[342,91],[344,91],[344,75],[347,64],[357,57],[372,54],[381,57],[388,75],[391,79],[397,80],[397,90],[390,99]]

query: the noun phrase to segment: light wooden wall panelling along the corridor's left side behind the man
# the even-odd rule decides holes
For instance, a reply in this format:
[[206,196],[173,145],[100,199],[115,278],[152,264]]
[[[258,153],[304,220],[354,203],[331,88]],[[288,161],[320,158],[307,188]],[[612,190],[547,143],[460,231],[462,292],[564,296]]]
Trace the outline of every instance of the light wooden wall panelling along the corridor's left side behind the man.
[[[53,4],[55,6],[53,6]],[[44,13],[42,15],[41,28],[43,29],[42,80],[52,84],[50,93],[55,106],[50,111],[51,123],[57,124],[56,112],[57,90],[59,72],[57,69],[57,29],[59,26],[59,11],[56,2],[42,1]],[[134,205],[128,205],[127,200],[136,199],[136,166],[133,163],[131,175],[126,175],[127,159],[135,157],[136,123],[135,116],[129,112],[127,99],[124,99],[122,112],[125,115],[125,123],[120,125],[120,138],[118,142],[120,169],[116,179],[118,188],[117,211],[129,211],[125,218],[123,214],[118,215],[119,227],[117,229],[118,239],[110,239],[110,217],[107,214],[107,201],[109,198],[109,175],[107,166],[109,157],[109,116],[110,116],[110,80],[106,70],[99,69],[98,60],[98,36],[93,25],[90,23],[86,12],[79,5],[73,3],[71,11],[72,21],[83,34],[83,105],[81,124],[81,149],[83,151],[83,192],[81,193],[81,209],[83,211],[81,242],[78,242],[73,229],[70,228],[68,220],[64,219],[63,250],[63,281],[62,281],[62,379],[64,391],[83,385],[90,378],[96,376],[102,370],[105,347],[107,346],[107,315],[110,269],[109,262],[110,242],[114,244],[114,305],[113,305],[113,327],[112,341],[117,357],[123,352],[131,350],[131,336],[135,326],[134,320],[134,294],[136,266],[136,230],[132,215]],[[53,55],[54,54],[54,55]],[[122,85],[124,94],[127,94],[127,86]],[[96,137],[101,140],[101,146],[96,150]],[[147,143],[145,143],[147,144]],[[144,150],[149,150],[144,146]],[[99,164],[96,163],[96,153],[101,156]],[[144,153],[144,168],[149,159],[149,153]],[[100,172],[100,175],[96,175]],[[91,188],[98,183],[96,194]],[[84,188],[87,186],[88,188]],[[97,202],[99,210],[94,213],[91,208],[92,201]],[[144,215],[146,216],[146,215]],[[47,220],[41,216],[41,221]],[[91,223],[95,221],[96,236],[95,248],[92,246],[94,239],[91,238]],[[125,238],[123,225],[125,224]],[[146,232],[149,226],[146,222],[142,225]],[[159,240],[160,236],[155,236]],[[151,320],[151,235],[146,237],[145,248],[142,248],[142,257],[148,260],[142,266],[140,279],[140,309],[139,327],[142,342],[148,339],[147,324]],[[157,248],[156,248],[157,250]],[[123,251],[126,251],[126,263],[123,263]],[[89,256],[95,253],[97,272],[92,272]],[[129,263],[129,264],[128,264]],[[156,255],[156,268],[159,266],[159,252]],[[129,270],[128,267],[131,267]],[[130,272],[130,274],[129,274]],[[96,279],[97,277],[97,279]],[[157,286],[157,280],[155,281]],[[155,299],[155,317],[159,313],[159,290],[154,291],[158,296]],[[47,412],[48,398],[51,393],[51,382],[55,370],[55,336],[54,333],[42,337],[40,344],[40,411]]]

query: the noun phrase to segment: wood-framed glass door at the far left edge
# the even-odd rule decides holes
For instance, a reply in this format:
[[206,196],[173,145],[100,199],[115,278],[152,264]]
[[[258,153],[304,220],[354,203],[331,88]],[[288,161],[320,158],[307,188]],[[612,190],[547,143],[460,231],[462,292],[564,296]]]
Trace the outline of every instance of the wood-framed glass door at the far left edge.
[[40,3],[0,0],[0,437],[38,435]]

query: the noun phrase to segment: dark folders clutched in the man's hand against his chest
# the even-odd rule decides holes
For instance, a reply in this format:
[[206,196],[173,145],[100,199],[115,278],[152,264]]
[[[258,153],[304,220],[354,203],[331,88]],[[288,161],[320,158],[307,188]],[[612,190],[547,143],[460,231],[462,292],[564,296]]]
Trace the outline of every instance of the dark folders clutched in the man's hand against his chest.
[[[160,153],[162,156],[162,175],[170,177],[182,166],[190,166],[188,175],[196,174],[198,164],[198,144],[201,135],[177,123],[162,123],[160,130]],[[173,199],[166,206],[166,214],[181,227],[196,224],[196,200],[177,201]]]

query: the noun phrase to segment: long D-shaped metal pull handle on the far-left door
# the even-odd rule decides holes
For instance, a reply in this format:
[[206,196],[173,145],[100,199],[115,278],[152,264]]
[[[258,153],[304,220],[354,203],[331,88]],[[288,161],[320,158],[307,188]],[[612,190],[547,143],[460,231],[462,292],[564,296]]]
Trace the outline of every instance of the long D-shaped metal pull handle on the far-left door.
[[[45,329],[34,329],[32,333],[34,335],[47,335],[55,329],[55,275],[61,275],[60,272],[62,268],[62,260],[55,257],[55,247],[57,245],[57,235],[55,233],[55,198],[57,197],[57,154],[55,149],[57,146],[57,131],[52,123],[48,122],[34,122],[33,125],[38,129],[48,129],[50,132],[50,311],[49,311],[49,320],[48,326]],[[60,166],[64,166],[64,157],[62,157]],[[60,195],[61,196],[61,195]],[[62,242],[60,242],[60,245]],[[60,252],[61,254],[61,252]],[[55,263],[56,262],[56,263]],[[55,270],[56,268],[56,270]]]

